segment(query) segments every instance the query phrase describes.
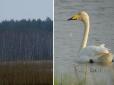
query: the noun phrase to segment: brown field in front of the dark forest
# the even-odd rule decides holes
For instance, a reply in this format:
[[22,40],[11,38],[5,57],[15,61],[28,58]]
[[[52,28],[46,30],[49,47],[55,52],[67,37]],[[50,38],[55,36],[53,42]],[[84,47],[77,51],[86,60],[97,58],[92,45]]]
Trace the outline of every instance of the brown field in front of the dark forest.
[[0,85],[52,85],[53,63],[45,61],[0,63]]

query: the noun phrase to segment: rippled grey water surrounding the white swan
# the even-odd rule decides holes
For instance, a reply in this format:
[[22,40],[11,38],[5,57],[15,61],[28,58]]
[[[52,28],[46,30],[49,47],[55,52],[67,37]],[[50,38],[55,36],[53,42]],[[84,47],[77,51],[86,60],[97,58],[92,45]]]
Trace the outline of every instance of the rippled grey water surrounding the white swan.
[[55,79],[61,82],[61,78],[67,75],[65,82],[74,85],[78,76],[84,78],[84,70],[87,68],[87,85],[114,85],[113,64],[91,65],[78,62],[83,23],[67,21],[73,14],[81,10],[87,11],[91,25],[88,45],[105,43],[114,53],[114,0],[55,0],[54,9]]

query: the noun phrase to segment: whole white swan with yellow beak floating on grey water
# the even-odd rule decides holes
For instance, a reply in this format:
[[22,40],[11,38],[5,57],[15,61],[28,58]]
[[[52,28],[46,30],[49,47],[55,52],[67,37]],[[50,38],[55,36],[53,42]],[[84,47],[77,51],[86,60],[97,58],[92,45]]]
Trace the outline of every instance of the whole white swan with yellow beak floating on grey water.
[[89,15],[85,11],[81,11],[75,15],[73,15],[69,20],[79,20],[84,23],[85,29],[83,34],[83,40],[81,43],[81,48],[79,52],[79,56],[81,59],[86,59],[90,63],[94,62],[102,62],[102,63],[111,63],[113,62],[113,55],[110,52],[110,49],[105,47],[105,44],[101,44],[99,46],[87,46],[89,30],[90,30],[90,20]]

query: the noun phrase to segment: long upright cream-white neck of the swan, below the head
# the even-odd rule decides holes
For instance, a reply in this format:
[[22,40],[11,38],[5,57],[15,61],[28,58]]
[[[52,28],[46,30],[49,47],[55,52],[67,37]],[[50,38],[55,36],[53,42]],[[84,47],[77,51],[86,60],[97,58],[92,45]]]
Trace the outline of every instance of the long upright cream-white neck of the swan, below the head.
[[89,23],[89,19],[83,21],[84,22],[84,34],[83,34],[83,40],[82,40],[82,44],[81,44],[81,48],[85,48],[87,46],[87,41],[88,41],[88,36],[89,36],[89,28],[90,28],[90,23]]

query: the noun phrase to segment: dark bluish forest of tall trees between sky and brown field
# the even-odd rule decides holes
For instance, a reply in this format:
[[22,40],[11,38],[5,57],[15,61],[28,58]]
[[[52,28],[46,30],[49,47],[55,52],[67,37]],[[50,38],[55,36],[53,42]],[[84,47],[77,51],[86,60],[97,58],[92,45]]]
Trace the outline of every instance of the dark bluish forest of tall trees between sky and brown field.
[[0,22],[0,61],[52,58],[53,21],[49,17]]

